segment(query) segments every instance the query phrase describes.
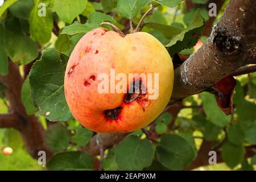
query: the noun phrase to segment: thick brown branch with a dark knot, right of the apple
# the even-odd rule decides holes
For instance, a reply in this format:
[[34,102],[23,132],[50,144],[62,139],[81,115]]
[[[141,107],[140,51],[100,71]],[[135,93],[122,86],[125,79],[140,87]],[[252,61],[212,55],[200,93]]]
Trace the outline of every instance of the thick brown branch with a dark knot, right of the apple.
[[207,43],[175,69],[171,102],[203,92],[248,63],[256,45],[255,11],[254,0],[229,2]]

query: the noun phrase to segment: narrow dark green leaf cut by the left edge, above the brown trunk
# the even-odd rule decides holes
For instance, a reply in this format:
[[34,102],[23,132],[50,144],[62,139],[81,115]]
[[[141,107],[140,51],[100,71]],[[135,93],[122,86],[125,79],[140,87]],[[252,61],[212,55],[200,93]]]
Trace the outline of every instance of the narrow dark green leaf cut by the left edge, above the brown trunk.
[[[5,35],[5,29],[2,24],[0,24],[0,35]],[[7,75],[8,74],[8,57],[5,52],[4,45],[4,36],[0,36],[0,74]]]

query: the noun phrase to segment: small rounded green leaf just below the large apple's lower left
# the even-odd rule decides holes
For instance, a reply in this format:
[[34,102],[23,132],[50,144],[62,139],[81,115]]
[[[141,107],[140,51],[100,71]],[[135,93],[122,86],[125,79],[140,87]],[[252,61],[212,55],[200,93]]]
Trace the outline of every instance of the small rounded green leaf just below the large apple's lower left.
[[85,129],[84,127],[79,127],[76,130],[72,140],[77,144],[77,146],[85,146],[92,138],[92,131]]

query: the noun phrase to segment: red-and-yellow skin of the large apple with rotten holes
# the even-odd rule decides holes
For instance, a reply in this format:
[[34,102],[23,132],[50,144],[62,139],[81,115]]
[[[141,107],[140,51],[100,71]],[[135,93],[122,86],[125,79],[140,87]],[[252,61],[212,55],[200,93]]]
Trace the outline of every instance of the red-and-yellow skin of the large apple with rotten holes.
[[[110,78],[111,68],[115,75],[125,73],[127,78],[128,73],[159,73],[159,97],[142,107],[137,101],[126,104],[126,93],[98,93],[97,76],[106,73]],[[96,77],[94,81],[92,76]],[[88,80],[89,86],[85,84]],[[73,49],[65,71],[64,90],[69,109],[81,125],[98,133],[119,133],[141,129],[154,121],[168,104],[173,84],[171,57],[154,36],[136,32],[123,37],[96,28]],[[117,107],[122,107],[118,119],[106,118],[105,110]]]

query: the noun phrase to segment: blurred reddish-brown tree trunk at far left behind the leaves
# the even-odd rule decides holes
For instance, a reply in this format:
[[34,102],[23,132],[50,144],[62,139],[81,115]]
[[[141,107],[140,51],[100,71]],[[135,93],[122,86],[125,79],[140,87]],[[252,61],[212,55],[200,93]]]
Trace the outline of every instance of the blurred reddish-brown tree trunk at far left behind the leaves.
[[[44,144],[44,129],[35,115],[27,115],[22,104],[20,93],[23,84],[23,78],[20,76],[19,68],[9,60],[9,74],[1,76],[2,84],[5,88],[6,96],[10,102],[11,117],[6,115],[0,117],[0,127],[14,125],[22,135],[24,145],[28,153],[35,159],[38,159],[38,151],[46,151],[47,158],[52,156],[52,152]],[[2,118],[2,119],[1,119]],[[7,119],[7,120],[6,120]]]

